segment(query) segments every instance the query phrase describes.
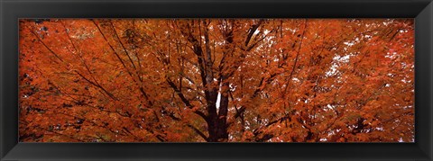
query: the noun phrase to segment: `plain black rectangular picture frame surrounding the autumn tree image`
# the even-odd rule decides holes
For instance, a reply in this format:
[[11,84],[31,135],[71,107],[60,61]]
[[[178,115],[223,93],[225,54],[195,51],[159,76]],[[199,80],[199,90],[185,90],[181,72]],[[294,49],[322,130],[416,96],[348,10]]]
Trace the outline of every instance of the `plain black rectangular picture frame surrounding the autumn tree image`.
[[[1,0],[0,160],[432,160],[431,0]],[[414,18],[415,143],[19,143],[19,18]]]

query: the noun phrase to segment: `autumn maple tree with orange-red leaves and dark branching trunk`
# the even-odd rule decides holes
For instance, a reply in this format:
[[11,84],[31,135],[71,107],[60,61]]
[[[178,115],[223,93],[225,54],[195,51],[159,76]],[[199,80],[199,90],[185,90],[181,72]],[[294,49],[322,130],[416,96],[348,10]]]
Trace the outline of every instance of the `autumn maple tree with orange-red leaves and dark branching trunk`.
[[412,142],[412,19],[22,19],[25,142]]

